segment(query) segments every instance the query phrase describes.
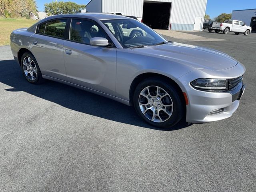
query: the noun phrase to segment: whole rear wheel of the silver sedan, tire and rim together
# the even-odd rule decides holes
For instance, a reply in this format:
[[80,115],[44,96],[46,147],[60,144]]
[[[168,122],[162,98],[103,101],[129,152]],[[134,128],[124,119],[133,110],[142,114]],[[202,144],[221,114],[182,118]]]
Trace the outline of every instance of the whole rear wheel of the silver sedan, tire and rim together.
[[42,83],[42,73],[36,62],[36,58],[30,52],[25,52],[22,55],[20,63],[23,75],[28,82],[33,84]]

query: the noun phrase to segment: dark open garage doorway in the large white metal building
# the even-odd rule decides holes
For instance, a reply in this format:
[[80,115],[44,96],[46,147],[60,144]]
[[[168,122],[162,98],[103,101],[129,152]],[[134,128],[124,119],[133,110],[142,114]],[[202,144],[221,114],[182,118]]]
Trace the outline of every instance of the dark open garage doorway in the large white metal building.
[[168,29],[171,3],[144,1],[143,23],[153,29]]

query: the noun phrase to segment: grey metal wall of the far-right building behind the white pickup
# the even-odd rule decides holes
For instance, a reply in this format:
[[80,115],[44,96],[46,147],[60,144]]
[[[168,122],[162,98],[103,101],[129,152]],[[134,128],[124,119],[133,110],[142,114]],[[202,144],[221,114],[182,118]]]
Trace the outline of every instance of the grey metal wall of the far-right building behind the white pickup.
[[256,9],[253,10],[239,10],[232,12],[232,19],[245,22],[247,26],[250,26],[252,17],[256,17]]

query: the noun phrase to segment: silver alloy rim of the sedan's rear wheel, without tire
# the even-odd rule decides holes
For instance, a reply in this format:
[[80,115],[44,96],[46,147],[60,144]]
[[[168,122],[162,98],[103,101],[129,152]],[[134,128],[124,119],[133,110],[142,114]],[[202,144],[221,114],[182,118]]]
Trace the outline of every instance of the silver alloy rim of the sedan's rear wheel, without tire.
[[37,68],[35,62],[32,60],[32,58],[26,56],[23,59],[22,65],[26,77],[29,80],[34,81],[37,76]]

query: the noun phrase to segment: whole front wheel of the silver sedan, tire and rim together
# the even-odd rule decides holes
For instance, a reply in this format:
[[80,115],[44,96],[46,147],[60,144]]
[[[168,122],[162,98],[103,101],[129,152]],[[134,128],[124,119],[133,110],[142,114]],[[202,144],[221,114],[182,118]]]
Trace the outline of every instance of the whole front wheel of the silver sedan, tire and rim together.
[[158,78],[148,78],[134,92],[134,107],[148,124],[170,128],[184,115],[181,96],[171,84]]

